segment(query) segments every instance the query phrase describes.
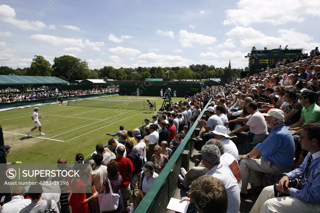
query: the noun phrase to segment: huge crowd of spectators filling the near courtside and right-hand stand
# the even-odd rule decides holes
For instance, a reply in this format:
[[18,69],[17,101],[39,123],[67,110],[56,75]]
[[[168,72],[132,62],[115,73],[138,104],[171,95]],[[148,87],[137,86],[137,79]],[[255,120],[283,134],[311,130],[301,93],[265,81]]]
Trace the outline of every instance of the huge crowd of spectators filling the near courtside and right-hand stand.
[[[12,201],[41,209],[47,205],[42,199],[49,199],[57,212],[69,212],[67,207],[72,212],[100,212],[98,193],[113,192],[119,202],[110,212],[134,212],[198,121],[202,128],[193,140],[202,160],[188,171],[181,168],[178,177],[187,190],[181,201],[190,201],[187,212],[238,213],[250,196],[258,197],[252,213],[319,212],[319,63],[317,55],[285,59],[276,68],[225,86],[205,87],[151,120],[144,119],[142,129],[126,131],[120,126],[118,132],[107,133],[116,139],[109,139],[107,146],[97,144],[93,160],[84,162],[83,154],[76,155],[76,164],[88,164],[83,173],[96,193],[70,196],[61,191],[59,199],[29,193],[34,202],[28,204],[28,192],[17,188]],[[199,118],[209,99],[206,118]],[[84,187],[85,182],[73,184]],[[203,201],[208,202],[202,205]]]

